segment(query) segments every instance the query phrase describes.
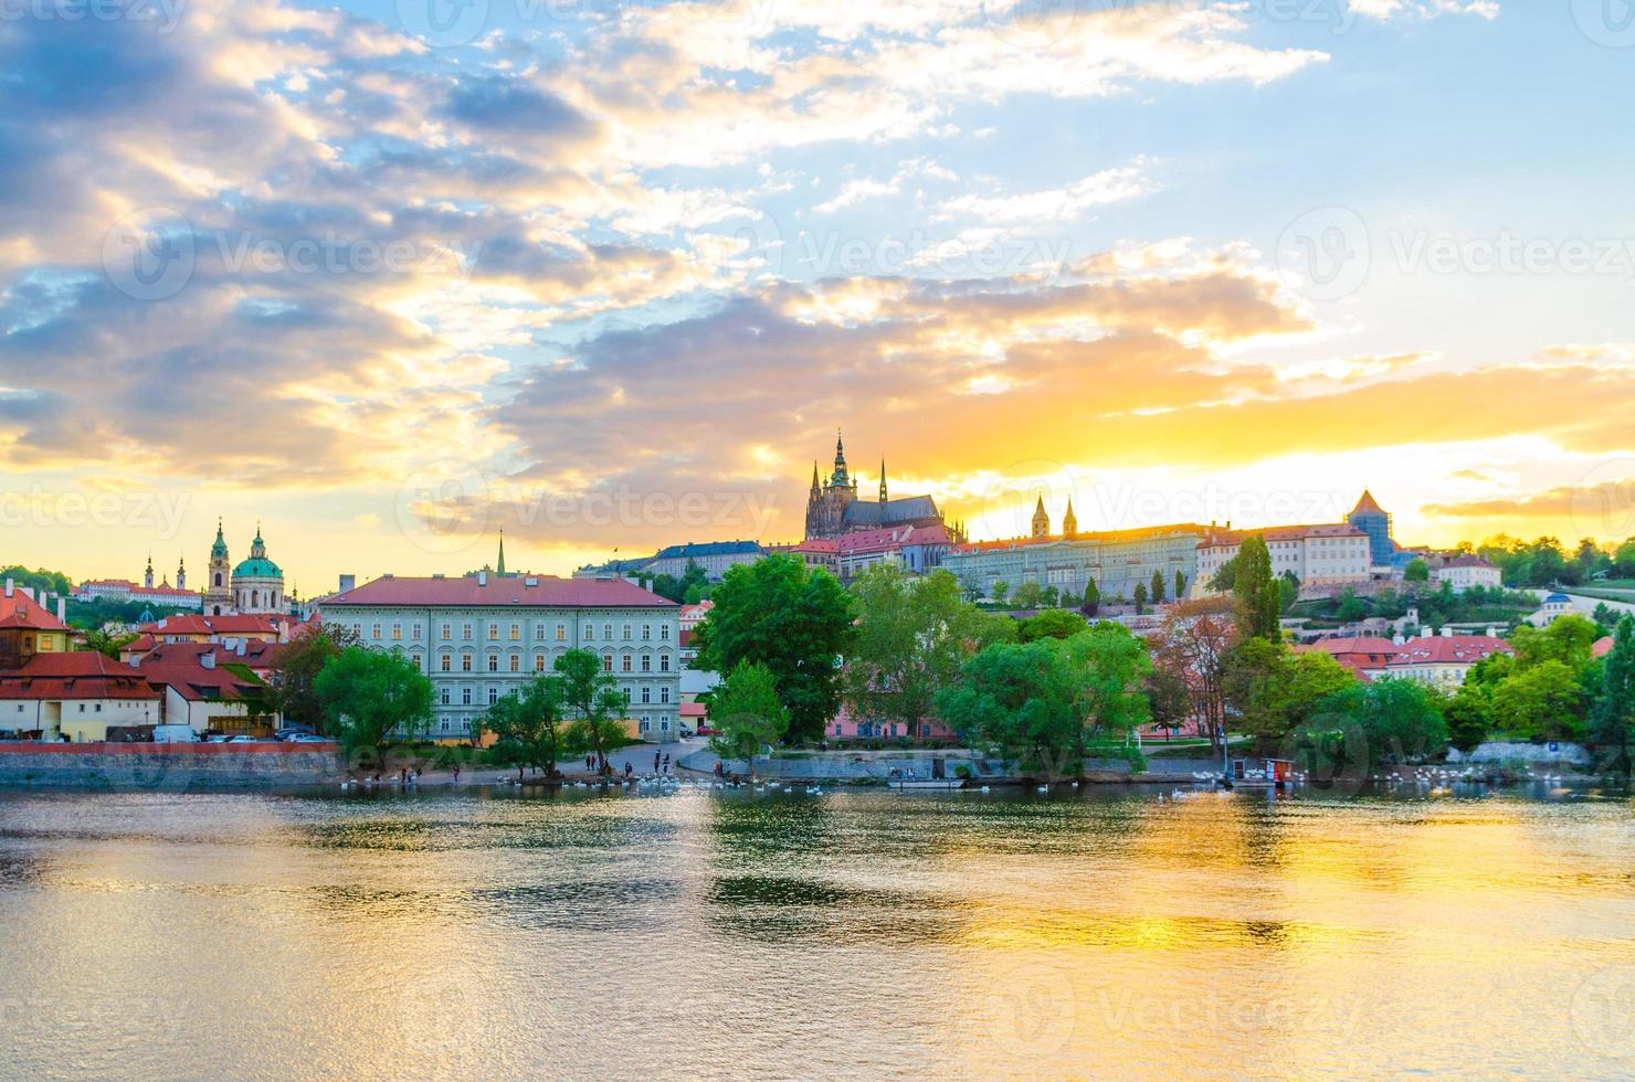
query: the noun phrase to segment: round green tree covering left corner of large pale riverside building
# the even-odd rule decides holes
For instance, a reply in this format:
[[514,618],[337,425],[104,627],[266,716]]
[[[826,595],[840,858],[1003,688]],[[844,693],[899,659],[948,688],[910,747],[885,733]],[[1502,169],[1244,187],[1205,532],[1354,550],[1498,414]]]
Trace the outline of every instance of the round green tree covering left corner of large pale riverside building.
[[348,646],[312,682],[325,732],[356,768],[384,770],[392,739],[414,740],[432,721],[432,682],[399,651]]

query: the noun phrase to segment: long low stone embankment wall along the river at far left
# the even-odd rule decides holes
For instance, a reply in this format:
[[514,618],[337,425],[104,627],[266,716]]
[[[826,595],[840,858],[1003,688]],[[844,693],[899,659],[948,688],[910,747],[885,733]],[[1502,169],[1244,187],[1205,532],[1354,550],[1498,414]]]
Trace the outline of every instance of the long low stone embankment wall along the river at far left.
[[278,788],[345,776],[334,744],[0,744],[0,785]]

